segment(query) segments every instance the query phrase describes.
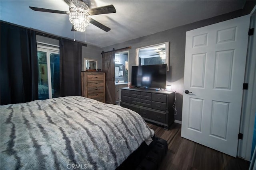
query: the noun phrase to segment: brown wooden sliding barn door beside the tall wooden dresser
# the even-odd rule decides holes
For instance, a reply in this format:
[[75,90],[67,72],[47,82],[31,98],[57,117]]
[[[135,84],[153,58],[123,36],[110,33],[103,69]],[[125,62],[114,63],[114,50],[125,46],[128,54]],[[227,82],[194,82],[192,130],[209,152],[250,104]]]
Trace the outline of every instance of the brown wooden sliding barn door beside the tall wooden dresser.
[[102,54],[102,71],[106,72],[106,103],[116,104],[115,101],[115,52]]

